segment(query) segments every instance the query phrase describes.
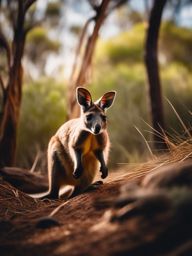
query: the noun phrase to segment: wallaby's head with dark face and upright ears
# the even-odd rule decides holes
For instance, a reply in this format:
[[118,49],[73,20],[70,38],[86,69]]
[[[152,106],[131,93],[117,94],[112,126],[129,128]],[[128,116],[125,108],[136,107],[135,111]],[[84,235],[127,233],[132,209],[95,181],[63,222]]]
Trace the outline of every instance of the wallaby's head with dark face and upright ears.
[[106,110],[112,106],[116,92],[105,93],[96,102],[92,101],[91,94],[83,87],[78,87],[76,92],[77,102],[81,106],[81,118],[85,128],[93,134],[99,134],[106,129]]

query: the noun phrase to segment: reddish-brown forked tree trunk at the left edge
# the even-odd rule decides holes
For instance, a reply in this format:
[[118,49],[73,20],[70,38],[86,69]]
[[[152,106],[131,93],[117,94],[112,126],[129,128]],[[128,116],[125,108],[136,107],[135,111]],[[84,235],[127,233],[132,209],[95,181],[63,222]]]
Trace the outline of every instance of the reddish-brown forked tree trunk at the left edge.
[[[13,40],[8,41],[0,31],[0,44],[6,50],[8,59],[8,83],[3,88],[3,106],[0,113],[0,166],[13,166],[15,163],[17,126],[22,98],[23,68],[26,30],[25,15],[36,0],[17,0],[17,18],[13,24]],[[1,77],[0,77],[1,78]]]

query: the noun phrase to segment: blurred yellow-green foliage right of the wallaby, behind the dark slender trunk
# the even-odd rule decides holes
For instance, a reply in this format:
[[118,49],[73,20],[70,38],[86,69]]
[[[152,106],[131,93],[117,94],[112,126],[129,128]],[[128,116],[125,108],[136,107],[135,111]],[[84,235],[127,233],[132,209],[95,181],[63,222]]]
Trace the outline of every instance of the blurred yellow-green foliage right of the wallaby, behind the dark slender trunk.
[[[190,57],[192,42],[190,44],[189,41],[192,41],[192,36],[189,38],[188,34],[190,35],[191,31],[177,28],[173,24],[169,30],[174,33],[168,34],[165,24],[160,39],[160,56],[166,59],[166,62],[160,66],[163,96],[172,102],[186,125],[190,127],[192,75],[188,69],[190,62],[183,56]],[[151,129],[145,124],[145,122],[150,124],[150,113],[148,84],[142,59],[144,32],[144,25],[138,24],[132,30],[109,41],[100,41],[97,47],[92,90],[98,97],[107,90],[117,90],[117,100],[109,110],[111,164],[116,167],[117,162],[142,161],[149,154],[135,126],[151,145]],[[168,40],[170,41],[167,47]],[[165,48],[167,51],[164,50]],[[180,51],[184,53],[179,55],[177,48],[182,48]],[[172,61],[168,56],[171,56]],[[167,131],[174,137],[176,133],[183,134],[182,126],[166,100],[164,111]]]

